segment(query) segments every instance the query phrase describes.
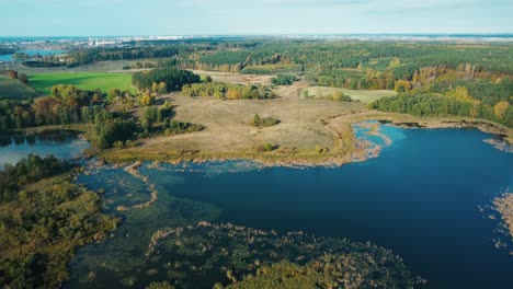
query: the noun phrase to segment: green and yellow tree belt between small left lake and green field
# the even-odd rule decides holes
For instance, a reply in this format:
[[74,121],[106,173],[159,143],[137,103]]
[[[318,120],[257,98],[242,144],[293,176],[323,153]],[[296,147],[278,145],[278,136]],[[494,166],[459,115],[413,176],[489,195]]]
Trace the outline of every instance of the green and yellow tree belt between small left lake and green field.
[[[192,76],[196,80],[197,76]],[[166,89],[166,82],[160,84],[153,88],[156,93],[162,86]],[[150,90],[142,93],[139,101],[144,101],[146,96],[155,99],[153,95]],[[107,93],[109,103],[104,101],[101,91],[83,91],[66,84],[55,85],[50,96],[27,103],[0,100],[0,132],[34,126],[90,124],[92,129],[88,136],[92,144],[98,149],[110,149],[132,147],[134,140],[152,134],[175,135],[203,129],[200,125],[172,120],[172,105],[168,102],[160,107],[145,103],[147,108],[140,117],[132,116],[125,108],[109,108],[113,102],[116,106],[123,106],[124,102],[134,102],[134,99],[127,91],[112,89]],[[158,129],[155,124],[160,125]]]

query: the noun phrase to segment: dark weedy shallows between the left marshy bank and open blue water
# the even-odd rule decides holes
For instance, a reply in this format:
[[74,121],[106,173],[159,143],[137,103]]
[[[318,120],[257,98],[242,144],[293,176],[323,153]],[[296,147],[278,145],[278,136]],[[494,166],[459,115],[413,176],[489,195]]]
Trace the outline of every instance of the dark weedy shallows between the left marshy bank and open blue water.
[[[158,174],[146,175],[142,170],[145,166],[138,169],[136,176],[128,173],[129,170],[105,165],[101,169],[88,167],[88,175],[78,177],[79,183],[91,188],[103,188],[104,208],[123,218],[123,222],[111,238],[77,252],[77,257],[70,263],[72,274],[67,286],[107,287],[112,282],[115,286],[130,286],[140,285],[141,279],[155,279],[166,271],[155,266],[142,269],[147,263],[145,253],[155,239],[153,234],[162,228],[183,227],[191,222],[212,220],[219,215],[219,209],[214,205],[175,198],[171,194],[160,194],[151,206],[116,210],[119,206],[134,208],[145,204],[151,199],[148,196],[149,188],[167,193],[167,186],[181,182],[180,177],[155,169],[147,170]],[[88,278],[90,273],[94,274],[94,279]]]

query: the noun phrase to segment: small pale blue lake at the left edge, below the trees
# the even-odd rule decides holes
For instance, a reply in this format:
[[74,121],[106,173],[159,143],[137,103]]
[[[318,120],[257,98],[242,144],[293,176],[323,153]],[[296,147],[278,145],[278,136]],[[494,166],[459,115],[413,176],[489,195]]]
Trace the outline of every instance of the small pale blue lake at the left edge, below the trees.
[[80,157],[89,148],[87,140],[79,139],[72,131],[45,131],[37,135],[0,136],[0,170],[5,163],[15,164],[30,153],[42,158],[54,154],[60,159]]

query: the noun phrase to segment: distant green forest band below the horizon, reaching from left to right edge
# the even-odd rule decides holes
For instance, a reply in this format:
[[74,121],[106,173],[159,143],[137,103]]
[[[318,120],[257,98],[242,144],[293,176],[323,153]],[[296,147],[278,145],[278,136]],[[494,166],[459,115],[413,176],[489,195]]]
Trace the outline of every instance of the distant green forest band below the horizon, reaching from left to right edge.
[[[461,63],[470,63],[492,73],[513,73],[512,55],[511,44],[262,39],[83,49],[70,53],[69,62],[83,65],[102,60],[172,57],[184,66],[227,65],[237,66],[240,70],[264,65],[297,65],[295,68],[299,70],[356,68],[358,65],[385,69],[391,58],[399,58],[406,71],[438,65],[457,69]],[[379,59],[384,61],[374,61]]]

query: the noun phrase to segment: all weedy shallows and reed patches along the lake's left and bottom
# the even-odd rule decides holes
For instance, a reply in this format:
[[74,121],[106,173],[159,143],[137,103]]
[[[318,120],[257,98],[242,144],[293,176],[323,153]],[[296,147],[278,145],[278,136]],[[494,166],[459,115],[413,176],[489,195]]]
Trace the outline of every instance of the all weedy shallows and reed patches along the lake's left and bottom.
[[[93,166],[78,182],[104,189],[105,208],[122,217],[123,223],[111,238],[78,251],[70,263],[71,280],[66,284],[70,288],[145,287],[161,281],[181,288],[212,288],[216,282],[228,285],[242,280],[249,274],[258,274],[260,267],[284,259],[307,266],[321,261],[326,254],[346,261],[344,274],[353,276],[347,278],[354,279],[357,273],[361,279],[376,284],[418,284],[400,257],[371,243],[304,232],[277,233],[232,223],[215,224],[212,222],[220,213],[218,207],[172,195],[172,187],[183,182],[180,174],[185,172],[212,177],[258,170],[260,164],[138,162],[124,169]],[[134,208],[135,196],[148,201],[150,188],[159,192],[151,206],[114,209]]]

